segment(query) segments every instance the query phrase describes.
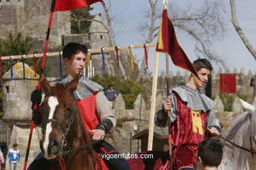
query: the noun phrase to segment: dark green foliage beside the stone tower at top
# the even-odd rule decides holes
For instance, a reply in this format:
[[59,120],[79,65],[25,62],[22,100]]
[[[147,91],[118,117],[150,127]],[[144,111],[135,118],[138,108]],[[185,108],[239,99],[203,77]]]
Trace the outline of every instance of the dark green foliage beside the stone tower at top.
[[71,33],[89,33],[91,20],[94,16],[89,13],[91,7],[71,10]]

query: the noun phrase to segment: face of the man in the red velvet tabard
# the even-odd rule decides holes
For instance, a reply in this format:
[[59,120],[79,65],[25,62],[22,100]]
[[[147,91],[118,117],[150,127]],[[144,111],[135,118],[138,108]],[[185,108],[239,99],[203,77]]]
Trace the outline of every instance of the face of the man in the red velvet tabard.
[[206,82],[208,82],[208,78],[210,74],[211,74],[211,71],[209,69],[204,69],[204,68],[200,69],[198,71],[198,76],[200,77],[201,80],[199,80],[196,76],[193,76],[196,88],[204,87]]

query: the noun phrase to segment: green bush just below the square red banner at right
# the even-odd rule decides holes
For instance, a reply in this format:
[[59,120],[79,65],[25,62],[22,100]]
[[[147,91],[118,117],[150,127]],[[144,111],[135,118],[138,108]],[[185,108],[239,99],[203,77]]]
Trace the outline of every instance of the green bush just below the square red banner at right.
[[237,93],[219,93],[219,97],[224,105],[224,111],[230,112],[232,110],[232,104],[234,103],[234,99],[238,96],[240,99],[246,101],[248,99],[248,95]]

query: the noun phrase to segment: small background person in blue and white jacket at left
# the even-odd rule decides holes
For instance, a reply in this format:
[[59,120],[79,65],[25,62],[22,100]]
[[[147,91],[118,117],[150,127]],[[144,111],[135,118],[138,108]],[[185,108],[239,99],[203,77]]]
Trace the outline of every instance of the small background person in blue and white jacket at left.
[[9,150],[7,158],[10,162],[10,169],[16,170],[17,163],[20,161],[20,150],[18,150],[18,144],[12,144],[12,148]]

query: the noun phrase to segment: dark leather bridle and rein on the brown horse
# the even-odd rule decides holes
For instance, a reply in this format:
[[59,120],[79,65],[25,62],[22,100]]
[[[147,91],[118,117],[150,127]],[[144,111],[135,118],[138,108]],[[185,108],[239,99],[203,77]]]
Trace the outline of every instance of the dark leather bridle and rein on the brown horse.
[[[48,92],[45,94],[45,97],[47,95],[53,95],[53,92]],[[70,93],[70,95],[72,96],[72,98],[75,99],[74,97],[74,94],[73,93]],[[62,131],[64,132],[63,136],[62,136],[62,143],[60,145],[60,151],[58,152],[58,156],[64,156],[64,155],[67,155],[67,154],[70,154],[70,152],[74,152],[74,151],[77,151],[77,150],[81,150],[83,148],[86,148],[88,146],[93,146],[93,144],[96,144],[98,142],[100,142],[100,140],[98,141],[93,141],[91,143],[87,143],[87,144],[84,144],[82,146],[79,146],[77,148],[69,148],[68,150],[66,151],[63,151],[63,148],[66,146],[67,144],[67,141],[66,141],[66,137],[68,137],[68,132],[70,131],[70,127],[72,126],[73,122],[74,122],[74,119],[75,119],[75,112],[77,112],[77,108],[75,109],[72,109],[72,113],[71,113],[71,116],[70,116],[70,121],[68,122],[68,126],[65,128],[60,122],[58,122],[58,120],[54,119],[54,118],[51,118],[51,119],[47,119],[44,123],[43,123],[43,126],[42,126],[42,133],[44,133],[44,130],[45,129],[45,126],[50,123],[50,122],[53,122],[55,124],[57,124],[61,129]]]

